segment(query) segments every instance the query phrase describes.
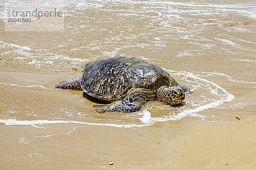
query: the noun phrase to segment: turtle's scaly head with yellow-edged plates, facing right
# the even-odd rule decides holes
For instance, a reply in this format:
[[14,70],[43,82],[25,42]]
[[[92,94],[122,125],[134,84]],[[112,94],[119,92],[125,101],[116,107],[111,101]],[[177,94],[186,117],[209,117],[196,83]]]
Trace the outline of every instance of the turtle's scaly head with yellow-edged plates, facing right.
[[179,105],[185,99],[185,92],[179,86],[162,86],[157,90],[157,101],[168,105]]

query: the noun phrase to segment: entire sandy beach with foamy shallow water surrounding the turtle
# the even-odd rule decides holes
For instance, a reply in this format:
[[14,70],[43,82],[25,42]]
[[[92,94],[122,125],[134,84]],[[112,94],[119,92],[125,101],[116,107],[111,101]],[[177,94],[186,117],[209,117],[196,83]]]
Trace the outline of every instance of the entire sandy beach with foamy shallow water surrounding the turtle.
[[[0,169],[256,168],[253,0],[17,0],[3,11],[35,8],[63,17],[0,20]],[[116,56],[165,69],[192,88],[186,105],[100,114],[82,91],[54,88]]]

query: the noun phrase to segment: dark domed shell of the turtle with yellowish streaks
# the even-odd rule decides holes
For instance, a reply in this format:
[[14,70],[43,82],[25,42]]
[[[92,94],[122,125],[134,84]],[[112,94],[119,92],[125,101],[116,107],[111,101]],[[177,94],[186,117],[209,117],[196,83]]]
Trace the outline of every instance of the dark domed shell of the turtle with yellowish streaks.
[[135,57],[112,57],[84,67],[81,88],[98,99],[115,101],[134,88],[156,90],[169,85],[171,76],[162,68]]

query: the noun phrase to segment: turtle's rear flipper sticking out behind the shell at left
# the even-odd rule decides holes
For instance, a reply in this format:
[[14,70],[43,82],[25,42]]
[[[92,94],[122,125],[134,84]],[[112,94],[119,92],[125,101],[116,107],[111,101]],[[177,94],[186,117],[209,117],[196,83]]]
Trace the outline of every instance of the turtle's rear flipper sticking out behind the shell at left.
[[81,76],[73,78],[72,80],[65,80],[55,85],[55,88],[63,88],[70,90],[82,90]]

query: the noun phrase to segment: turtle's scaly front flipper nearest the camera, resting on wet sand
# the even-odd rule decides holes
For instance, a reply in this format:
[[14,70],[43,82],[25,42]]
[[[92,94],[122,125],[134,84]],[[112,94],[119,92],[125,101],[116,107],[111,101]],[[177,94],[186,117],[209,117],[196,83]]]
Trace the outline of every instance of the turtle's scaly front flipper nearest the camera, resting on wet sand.
[[99,113],[136,112],[142,108],[145,102],[154,99],[155,96],[155,91],[145,88],[136,88],[132,90],[125,99],[117,100],[107,105],[93,105],[93,108]]

